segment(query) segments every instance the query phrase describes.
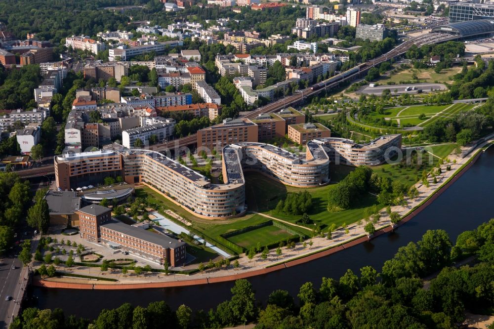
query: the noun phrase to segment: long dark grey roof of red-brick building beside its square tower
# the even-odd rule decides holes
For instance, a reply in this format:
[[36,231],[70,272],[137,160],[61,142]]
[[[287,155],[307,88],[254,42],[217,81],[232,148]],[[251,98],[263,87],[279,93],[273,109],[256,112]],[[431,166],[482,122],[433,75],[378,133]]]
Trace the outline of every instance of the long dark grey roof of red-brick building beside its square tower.
[[126,234],[130,237],[137,238],[152,244],[162,246],[165,248],[177,248],[185,245],[185,242],[172,239],[166,235],[152,233],[139,227],[124,224],[122,222],[111,220],[108,223],[101,225],[101,227]]

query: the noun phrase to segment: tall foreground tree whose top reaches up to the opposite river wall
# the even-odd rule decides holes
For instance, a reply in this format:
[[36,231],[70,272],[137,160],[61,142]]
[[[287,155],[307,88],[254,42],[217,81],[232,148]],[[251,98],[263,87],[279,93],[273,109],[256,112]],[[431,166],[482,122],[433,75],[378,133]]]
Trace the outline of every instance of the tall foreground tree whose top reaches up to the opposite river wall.
[[230,307],[237,323],[245,323],[254,318],[255,295],[252,285],[246,279],[235,281],[231,289]]

